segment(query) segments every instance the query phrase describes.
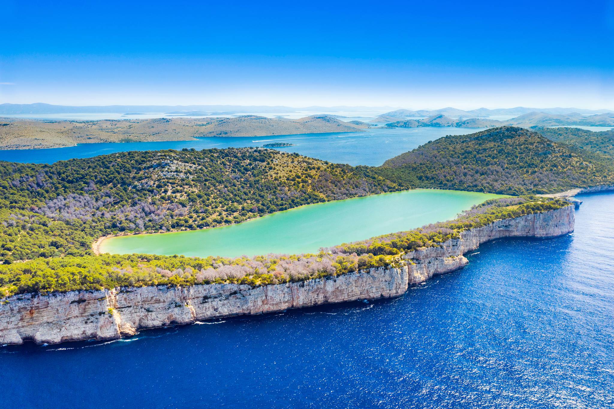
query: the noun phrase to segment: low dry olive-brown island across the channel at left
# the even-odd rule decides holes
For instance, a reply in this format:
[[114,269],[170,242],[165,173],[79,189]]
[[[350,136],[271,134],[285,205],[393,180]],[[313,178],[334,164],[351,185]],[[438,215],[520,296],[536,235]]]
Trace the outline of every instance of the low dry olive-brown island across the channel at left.
[[330,115],[311,115],[301,119],[257,115],[93,121],[0,119],[0,148],[49,148],[91,142],[185,141],[198,136],[355,132],[370,126],[360,121],[343,122]]

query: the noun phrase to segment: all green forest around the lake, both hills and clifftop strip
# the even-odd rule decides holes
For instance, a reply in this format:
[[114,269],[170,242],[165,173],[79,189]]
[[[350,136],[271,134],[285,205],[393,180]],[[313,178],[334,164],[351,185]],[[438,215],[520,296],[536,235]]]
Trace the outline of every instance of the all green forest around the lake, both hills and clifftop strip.
[[522,128],[495,128],[446,136],[379,168],[260,148],[124,152],[52,165],[0,162],[0,295],[208,282],[257,286],[340,275],[394,264],[465,228],[566,202],[533,196],[488,201],[453,222],[319,254],[96,256],[91,245],[105,235],[215,227],[416,187],[527,195],[614,184],[607,135],[540,131],[564,143]]

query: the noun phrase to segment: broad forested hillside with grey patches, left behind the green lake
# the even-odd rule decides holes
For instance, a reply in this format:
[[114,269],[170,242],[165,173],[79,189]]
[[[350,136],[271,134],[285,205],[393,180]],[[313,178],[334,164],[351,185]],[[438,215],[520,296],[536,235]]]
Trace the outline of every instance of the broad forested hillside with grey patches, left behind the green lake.
[[373,168],[262,148],[0,162],[0,262],[91,254],[99,236],[227,225],[399,189]]

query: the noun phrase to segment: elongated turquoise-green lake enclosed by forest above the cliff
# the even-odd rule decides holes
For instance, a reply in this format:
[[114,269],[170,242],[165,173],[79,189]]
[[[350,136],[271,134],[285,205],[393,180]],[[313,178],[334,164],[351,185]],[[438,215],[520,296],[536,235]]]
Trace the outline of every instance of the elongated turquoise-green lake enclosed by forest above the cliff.
[[453,219],[494,197],[499,195],[431,189],[384,193],[309,204],[227,227],[109,238],[101,251],[199,257],[316,252],[320,247]]

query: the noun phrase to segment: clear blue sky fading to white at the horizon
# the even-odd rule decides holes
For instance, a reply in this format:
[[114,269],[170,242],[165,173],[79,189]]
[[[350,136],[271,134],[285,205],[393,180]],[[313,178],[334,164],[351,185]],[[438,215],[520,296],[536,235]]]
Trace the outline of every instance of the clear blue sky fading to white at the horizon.
[[614,1],[0,0],[0,103],[614,109]]

